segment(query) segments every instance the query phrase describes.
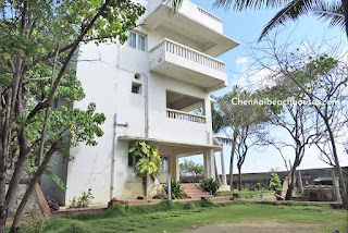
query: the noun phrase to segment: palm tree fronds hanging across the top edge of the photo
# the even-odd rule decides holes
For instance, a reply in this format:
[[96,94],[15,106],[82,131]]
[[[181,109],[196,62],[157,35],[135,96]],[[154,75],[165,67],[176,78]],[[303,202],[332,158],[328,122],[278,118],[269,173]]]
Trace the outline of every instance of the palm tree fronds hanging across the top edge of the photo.
[[[176,11],[182,2],[183,0],[173,0],[173,10]],[[348,37],[348,0],[215,0],[213,5],[235,11],[282,8],[264,26],[259,41],[273,28],[310,13],[328,21],[331,27],[337,26],[346,30]]]

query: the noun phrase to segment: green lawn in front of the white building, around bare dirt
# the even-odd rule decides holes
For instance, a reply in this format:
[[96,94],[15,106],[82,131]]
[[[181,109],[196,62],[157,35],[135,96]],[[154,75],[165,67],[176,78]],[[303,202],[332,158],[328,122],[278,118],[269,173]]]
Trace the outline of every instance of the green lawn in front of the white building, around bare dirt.
[[[286,224],[310,223],[322,232],[347,232],[347,211],[327,205],[293,201],[243,201],[212,204],[207,200],[190,203],[162,201],[154,206],[117,206],[104,214],[80,214],[51,218],[44,224],[48,233],[82,232],[182,232],[206,224],[234,223],[256,220],[276,220]],[[23,225],[21,232],[35,232],[35,223]]]

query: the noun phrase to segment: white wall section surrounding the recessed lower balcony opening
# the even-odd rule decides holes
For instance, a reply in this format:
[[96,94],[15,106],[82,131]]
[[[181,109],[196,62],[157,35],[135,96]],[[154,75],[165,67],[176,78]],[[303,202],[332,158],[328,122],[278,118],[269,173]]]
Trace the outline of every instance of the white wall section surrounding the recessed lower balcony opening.
[[[211,132],[210,97],[201,88],[171,77],[151,75],[149,82],[149,137],[188,144],[209,145]],[[204,99],[207,123],[196,123],[166,118],[166,90]]]

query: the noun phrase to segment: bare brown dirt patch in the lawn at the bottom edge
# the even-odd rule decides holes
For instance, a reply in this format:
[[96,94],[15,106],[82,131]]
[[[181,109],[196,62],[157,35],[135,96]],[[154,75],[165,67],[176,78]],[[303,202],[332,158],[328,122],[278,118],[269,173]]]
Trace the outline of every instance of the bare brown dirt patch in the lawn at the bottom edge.
[[231,224],[204,225],[195,230],[187,231],[189,233],[297,233],[297,232],[318,232],[320,228],[314,224],[304,223],[279,223],[274,220],[270,221],[245,221]]

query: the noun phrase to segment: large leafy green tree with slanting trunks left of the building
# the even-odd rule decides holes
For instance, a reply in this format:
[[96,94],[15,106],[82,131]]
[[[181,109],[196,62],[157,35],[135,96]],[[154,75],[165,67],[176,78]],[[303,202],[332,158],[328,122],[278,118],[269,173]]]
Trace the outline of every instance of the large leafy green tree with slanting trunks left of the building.
[[[130,0],[4,0],[0,2],[0,233],[16,197],[21,171],[30,157],[33,179],[15,213],[11,232],[55,151],[78,143],[95,145],[102,114],[53,103],[83,98],[72,60],[83,42],[127,39],[145,9]],[[71,91],[71,85],[74,91]],[[64,94],[65,93],[65,94]],[[59,111],[57,111],[59,110]],[[42,126],[44,125],[44,126]],[[15,163],[15,164],[14,164]],[[9,189],[5,176],[14,167]]]

